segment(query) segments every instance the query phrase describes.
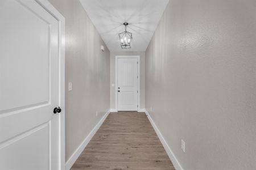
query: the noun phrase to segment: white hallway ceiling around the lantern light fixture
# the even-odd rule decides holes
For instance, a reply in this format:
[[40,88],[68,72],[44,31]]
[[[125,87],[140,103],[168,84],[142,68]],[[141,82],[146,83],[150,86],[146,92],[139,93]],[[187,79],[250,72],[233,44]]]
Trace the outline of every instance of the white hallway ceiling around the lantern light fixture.
[[[169,0],[80,0],[111,52],[144,52]],[[118,33],[133,33],[131,49],[121,49]]]

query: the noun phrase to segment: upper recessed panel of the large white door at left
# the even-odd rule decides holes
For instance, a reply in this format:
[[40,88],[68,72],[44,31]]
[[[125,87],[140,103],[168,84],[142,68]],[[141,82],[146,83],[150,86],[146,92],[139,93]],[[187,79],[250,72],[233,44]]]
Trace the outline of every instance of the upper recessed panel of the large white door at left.
[[1,12],[1,31],[8,32],[2,35],[7,43],[1,43],[2,112],[49,102],[49,24],[15,1],[6,7]]

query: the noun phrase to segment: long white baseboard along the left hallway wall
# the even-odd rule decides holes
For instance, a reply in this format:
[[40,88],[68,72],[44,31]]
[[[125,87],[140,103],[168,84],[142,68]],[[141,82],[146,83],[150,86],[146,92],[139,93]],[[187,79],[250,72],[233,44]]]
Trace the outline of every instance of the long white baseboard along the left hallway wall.
[[88,143],[90,142],[90,139],[92,139],[93,135],[97,132],[98,128],[100,128],[100,126],[105,121],[109,113],[110,113],[110,110],[105,113],[105,115],[101,118],[101,120],[97,123],[97,125],[93,128],[93,130],[90,131],[88,136],[84,139],[84,141],[82,141],[81,145],[76,149],[76,151],[68,159],[65,165],[65,170],[71,169],[72,165],[76,162],[77,158],[79,158],[82,151],[84,151],[84,148],[88,145]]

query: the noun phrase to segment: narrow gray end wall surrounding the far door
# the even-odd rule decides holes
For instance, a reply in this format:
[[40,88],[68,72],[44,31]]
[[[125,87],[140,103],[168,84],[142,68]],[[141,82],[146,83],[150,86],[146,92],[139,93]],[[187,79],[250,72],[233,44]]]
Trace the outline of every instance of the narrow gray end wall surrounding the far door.
[[110,108],[115,109],[115,56],[141,56],[140,57],[140,88],[141,88],[141,108],[145,108],[145,52],[110,52]]

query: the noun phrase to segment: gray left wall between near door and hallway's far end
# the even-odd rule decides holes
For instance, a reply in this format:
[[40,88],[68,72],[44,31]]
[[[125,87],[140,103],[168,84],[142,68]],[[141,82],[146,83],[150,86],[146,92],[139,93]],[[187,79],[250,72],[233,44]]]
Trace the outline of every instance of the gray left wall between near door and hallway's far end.
[[[79,0],[49,0],[65,17],[66,160],[109,110],[110,52]],[[105,46],[105,52],[100,50]],[[73,82],[73,91],[68,91]],[[98,116],[96,117],[96,111]]]

